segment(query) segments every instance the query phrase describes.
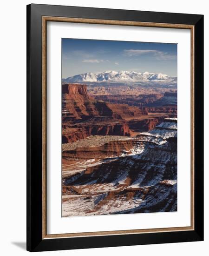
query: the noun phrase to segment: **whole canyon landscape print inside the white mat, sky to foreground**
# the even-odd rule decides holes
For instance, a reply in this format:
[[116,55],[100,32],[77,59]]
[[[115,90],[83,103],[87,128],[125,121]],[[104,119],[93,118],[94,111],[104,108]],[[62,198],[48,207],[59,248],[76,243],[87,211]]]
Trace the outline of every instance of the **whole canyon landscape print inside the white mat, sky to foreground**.
[[62,39],[62,216],[177,211],[177,45]]

